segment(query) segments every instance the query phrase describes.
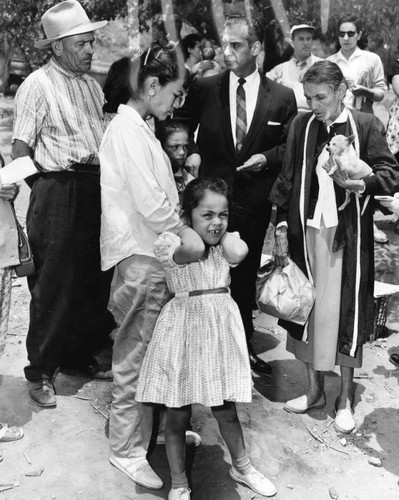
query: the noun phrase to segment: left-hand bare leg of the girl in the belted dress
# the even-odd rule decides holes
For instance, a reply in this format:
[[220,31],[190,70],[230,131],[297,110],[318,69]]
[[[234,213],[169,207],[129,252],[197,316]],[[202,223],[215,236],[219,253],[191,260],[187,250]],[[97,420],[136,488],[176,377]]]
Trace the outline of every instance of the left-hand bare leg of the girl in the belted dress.
[[172,476],[172,489],[188,488],[186,476],[186,429],[190,423],[191,406],[167,408],[165,447]]

